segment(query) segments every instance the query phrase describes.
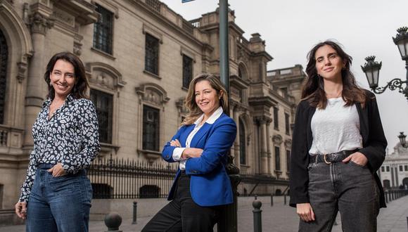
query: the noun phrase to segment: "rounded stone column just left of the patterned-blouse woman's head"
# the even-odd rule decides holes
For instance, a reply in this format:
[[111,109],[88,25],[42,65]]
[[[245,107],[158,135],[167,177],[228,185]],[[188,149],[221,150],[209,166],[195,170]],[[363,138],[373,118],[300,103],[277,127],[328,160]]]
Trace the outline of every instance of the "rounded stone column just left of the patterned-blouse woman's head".
[[[37,7],[37,4],[32,6]],[[35,11],[35,9],[34,9]],[[53,21],[49,20],[42,13],[34,12],[30,15],[32,47],[34,56],[30,60],[27,77],[27,91],[25,94],[25,136],[23,150],[29,153],[32,150],[32,124],[37,119],[37,114],[42,107],[44,101],[44,72],[45,72],[45,36],[46,30],[53,25]]]

